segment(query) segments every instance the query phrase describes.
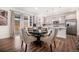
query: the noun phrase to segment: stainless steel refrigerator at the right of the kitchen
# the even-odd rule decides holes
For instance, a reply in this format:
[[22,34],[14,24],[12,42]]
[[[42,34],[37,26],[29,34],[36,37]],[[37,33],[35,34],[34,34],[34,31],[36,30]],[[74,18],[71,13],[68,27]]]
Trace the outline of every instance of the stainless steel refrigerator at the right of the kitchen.
[[66,23],[66,34],[67,35],[77,35],[77,20],[68,19],[65,21],[65,23]]

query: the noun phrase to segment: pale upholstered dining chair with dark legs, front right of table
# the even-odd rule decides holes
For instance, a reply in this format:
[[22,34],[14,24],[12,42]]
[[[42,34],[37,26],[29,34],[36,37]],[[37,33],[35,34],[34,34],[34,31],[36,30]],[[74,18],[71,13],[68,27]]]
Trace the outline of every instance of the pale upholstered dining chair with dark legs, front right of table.
[[49,30],[47,35],[41,37],[41,40],[46,42],[51,49],[52,52],[52,44],[54,44],[54,49],[56,48],[55,38],[57,35],[57,29]]

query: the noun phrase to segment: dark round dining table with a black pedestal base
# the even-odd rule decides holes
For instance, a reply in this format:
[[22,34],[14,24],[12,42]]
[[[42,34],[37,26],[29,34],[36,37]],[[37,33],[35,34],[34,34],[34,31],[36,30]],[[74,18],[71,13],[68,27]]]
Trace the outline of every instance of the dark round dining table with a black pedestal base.
[[47,33],[47,31],[34,30],[34,31],[29,31],[29,33],[32,36],[35,36],[37,38],[37,40],[33,42],[36,46],[41,47],[44,44],[44,42],[41,41],[40,38],[44,37],[44,35]]

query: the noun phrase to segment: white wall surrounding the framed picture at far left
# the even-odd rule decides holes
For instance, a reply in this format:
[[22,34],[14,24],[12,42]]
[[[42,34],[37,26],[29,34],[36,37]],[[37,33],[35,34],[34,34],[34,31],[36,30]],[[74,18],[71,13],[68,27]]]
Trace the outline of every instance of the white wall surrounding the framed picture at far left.
[[5,26],[0,26],[0,39],[3,38],[8,38],[10,37],[10,31],[9,31],[9,26],[10,26],[10,8],[6,8],[6,7],[0,7],[0,9],[8,11],[8,19],[7,19],[7,25]]

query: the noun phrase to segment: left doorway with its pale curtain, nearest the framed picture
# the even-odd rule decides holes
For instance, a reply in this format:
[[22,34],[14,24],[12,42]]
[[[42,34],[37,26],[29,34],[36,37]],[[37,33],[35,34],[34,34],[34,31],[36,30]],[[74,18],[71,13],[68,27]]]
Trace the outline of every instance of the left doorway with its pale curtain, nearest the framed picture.
[[21,14],[11,10],[10,36],[20,39],[20,20]]

